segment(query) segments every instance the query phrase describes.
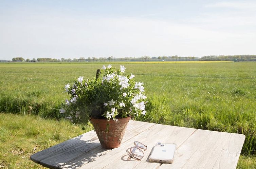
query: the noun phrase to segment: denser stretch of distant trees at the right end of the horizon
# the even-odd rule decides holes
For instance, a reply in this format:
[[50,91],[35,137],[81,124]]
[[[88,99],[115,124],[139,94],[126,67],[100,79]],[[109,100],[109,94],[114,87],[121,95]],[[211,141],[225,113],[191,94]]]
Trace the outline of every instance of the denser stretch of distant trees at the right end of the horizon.
[[232,61],[256,61],[256,55],[211,55],[203,56],[199,60],[232,60]]

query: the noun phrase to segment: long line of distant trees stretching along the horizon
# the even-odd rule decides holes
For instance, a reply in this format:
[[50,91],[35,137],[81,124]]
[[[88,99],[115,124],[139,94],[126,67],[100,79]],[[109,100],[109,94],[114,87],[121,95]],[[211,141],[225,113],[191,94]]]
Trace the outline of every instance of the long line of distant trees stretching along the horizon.
[[104,61],[196,61],[196,60],[203,60],[203,61],[214,61],[214,60],[232,60],[232,61],[256,61],[256,55],[211,55],[211,56],[203,56],[201,58],[189,56],[189,57],[181,57],[178,55],[175,56],[142,56],[139,58],[135,57],[125,57],[125,58],[114,58],[113,56],[110,57],[80,57],[79,59],[73,58],[73,59],[54,59],[54,58],[33,58],[30,59],[24,59],[22,57],[15,57],[12,59],[12,61],[26,61],[26,62],[104,62]]

